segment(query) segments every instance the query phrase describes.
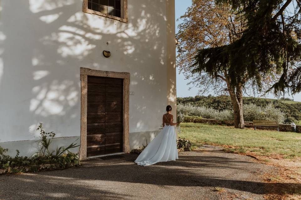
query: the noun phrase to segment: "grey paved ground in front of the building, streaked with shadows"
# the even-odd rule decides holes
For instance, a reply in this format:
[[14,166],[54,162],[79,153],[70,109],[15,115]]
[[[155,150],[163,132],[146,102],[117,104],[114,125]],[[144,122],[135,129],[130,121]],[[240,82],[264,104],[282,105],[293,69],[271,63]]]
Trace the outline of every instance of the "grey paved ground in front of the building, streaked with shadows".
[[204,145],[179,160],[143,167],[137,154],[98,158],[82,168],[0,176],[0,199],[263,199],[273,168]]

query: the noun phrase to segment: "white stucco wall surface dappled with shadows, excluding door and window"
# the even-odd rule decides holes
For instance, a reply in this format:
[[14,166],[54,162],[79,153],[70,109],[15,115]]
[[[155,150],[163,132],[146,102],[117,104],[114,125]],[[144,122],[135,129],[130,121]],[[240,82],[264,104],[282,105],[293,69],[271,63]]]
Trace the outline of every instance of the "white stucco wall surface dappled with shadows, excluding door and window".
[[158,130],[168,9],[128,0],[123,23],[82,12],[82,0],[1,1],[0,144],[38,139],[39,122],[56,137],[80,136],[80,67],[130,73],[130,133]]

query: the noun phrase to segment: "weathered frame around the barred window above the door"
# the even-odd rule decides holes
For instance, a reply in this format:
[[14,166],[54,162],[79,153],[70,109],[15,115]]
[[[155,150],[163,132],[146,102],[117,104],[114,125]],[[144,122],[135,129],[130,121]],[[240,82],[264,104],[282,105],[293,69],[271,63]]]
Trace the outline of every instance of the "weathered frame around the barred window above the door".
[[121,2],[121,11],[120,11],[121,17],[116,17],[114,15],[109,15],[109,14],[103,14],[101,12],[88,9],[88,0],[83,0],[82,11],[89,13],[89,14],[95,14],[95,15],[99,15],[102,17],[108,17],[111,19],[115,19],[120,22],[128,23],[128,0],[121,0],[120,2]]

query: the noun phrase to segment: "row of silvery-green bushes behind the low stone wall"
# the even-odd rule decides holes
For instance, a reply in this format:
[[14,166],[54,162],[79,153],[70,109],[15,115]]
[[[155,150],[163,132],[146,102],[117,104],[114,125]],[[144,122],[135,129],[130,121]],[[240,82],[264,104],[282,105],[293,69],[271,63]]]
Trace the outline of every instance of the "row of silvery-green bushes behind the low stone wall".
[[[184,122],[197,122],[198,117],[205,119],[233,120],[233,110],[216,110],[191,104],[179,104],[177,112],[185,115]],[[263,108],[255,104],[246,104],[243,107],[244,120],[252,122],[253,120],[271,120],[283,123],[285,113],[270,103]]]

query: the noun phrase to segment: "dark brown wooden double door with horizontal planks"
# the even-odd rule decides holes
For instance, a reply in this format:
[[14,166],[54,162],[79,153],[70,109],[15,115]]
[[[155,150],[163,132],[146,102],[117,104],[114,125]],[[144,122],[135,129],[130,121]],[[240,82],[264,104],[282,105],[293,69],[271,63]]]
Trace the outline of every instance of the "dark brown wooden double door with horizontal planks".
[[87,77],[87,157],[123,152],[123,79]]

